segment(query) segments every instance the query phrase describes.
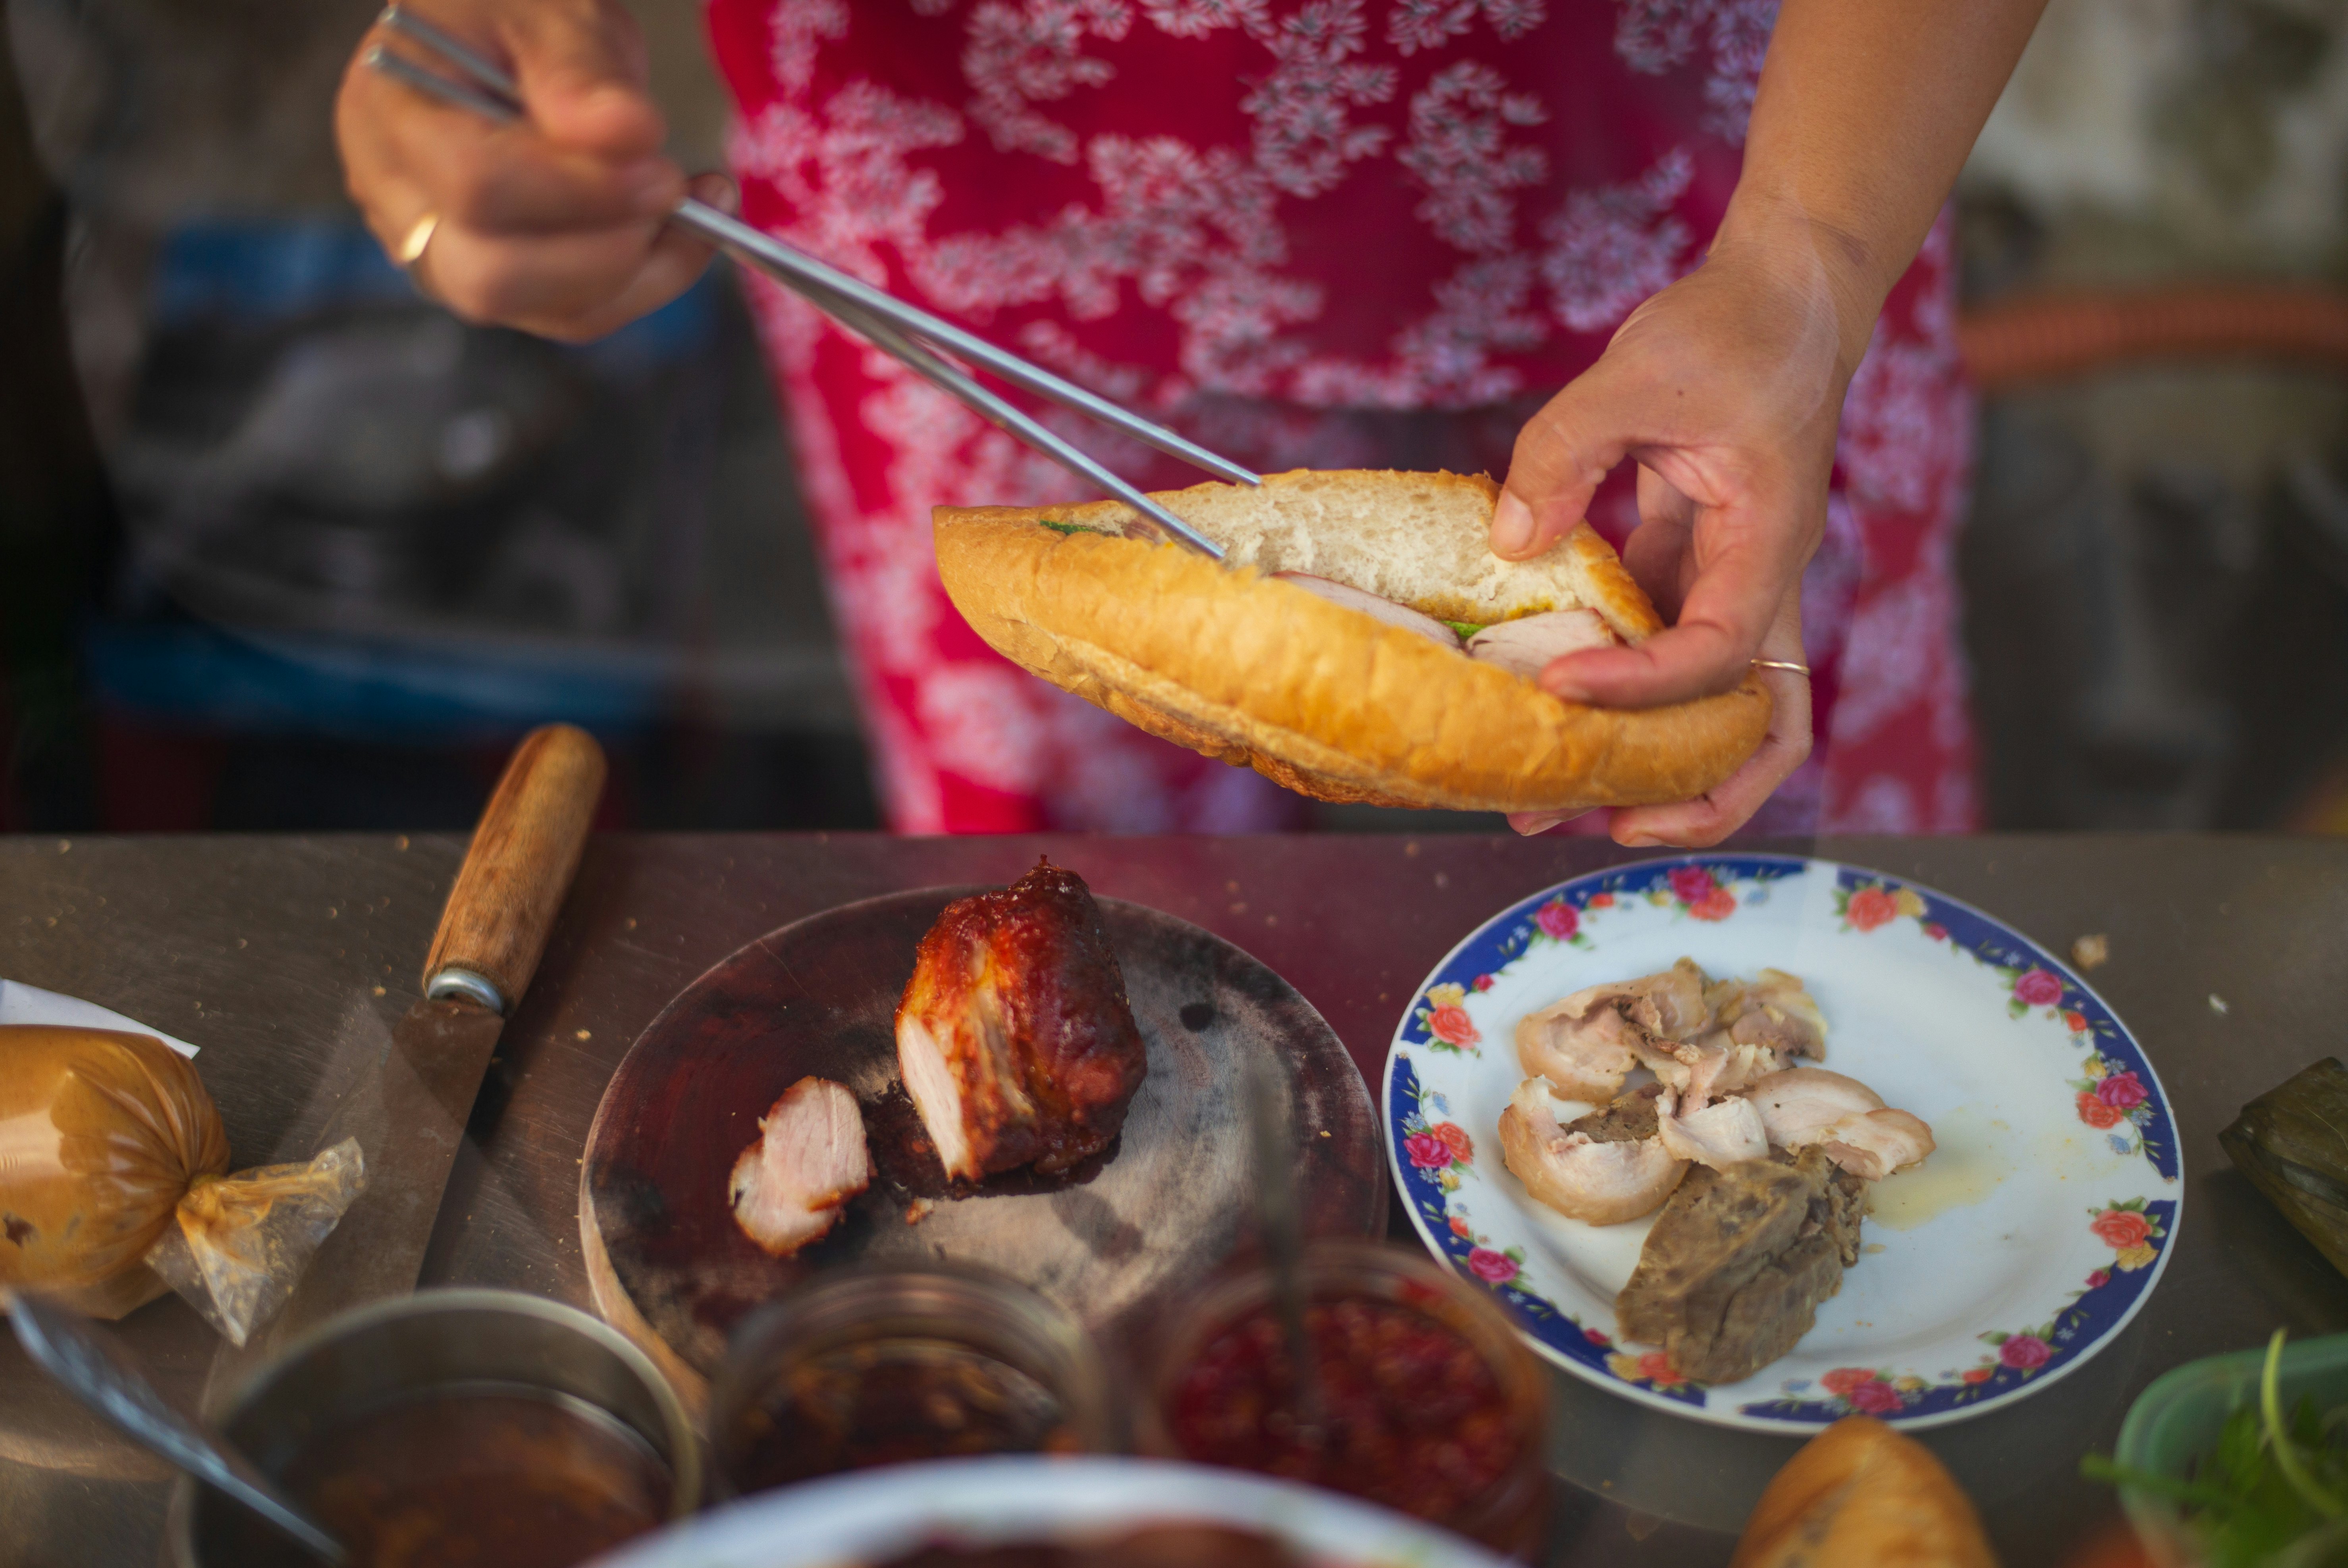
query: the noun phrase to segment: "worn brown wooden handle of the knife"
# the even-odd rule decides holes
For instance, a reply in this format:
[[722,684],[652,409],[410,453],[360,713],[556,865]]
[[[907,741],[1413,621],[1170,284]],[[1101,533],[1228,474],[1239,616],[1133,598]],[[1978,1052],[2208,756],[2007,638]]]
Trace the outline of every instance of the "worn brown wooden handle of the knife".
[[470,969],[495,986],[500,1012],[514,1009],[587,852],[601,793],[603,749],[587,730],[549,723],[521,737],[448,890],[425,991],[441,969]]

